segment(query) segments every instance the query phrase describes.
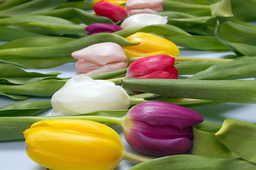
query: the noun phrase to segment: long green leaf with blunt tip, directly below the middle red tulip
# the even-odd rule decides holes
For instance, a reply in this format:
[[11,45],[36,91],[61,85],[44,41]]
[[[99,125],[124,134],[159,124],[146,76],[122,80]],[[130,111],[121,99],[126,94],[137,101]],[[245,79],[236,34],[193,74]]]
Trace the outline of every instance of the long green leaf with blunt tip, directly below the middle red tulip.
[[124,79],[122,86],[168,97],[256,103],[255,80]]

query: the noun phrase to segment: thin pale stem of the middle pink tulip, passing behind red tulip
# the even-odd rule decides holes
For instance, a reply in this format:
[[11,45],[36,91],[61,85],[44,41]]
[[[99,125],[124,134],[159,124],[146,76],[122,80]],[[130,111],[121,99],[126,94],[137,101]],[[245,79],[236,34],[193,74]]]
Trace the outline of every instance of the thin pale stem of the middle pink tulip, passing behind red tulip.
[[[134,62],[142,57],[129,57],[129,62]],[[213,62],[231,62],[233,59],[215,59],[215,58],[201,58],[201,57],[174,57],[176,62],[187,61],[213,61]]]

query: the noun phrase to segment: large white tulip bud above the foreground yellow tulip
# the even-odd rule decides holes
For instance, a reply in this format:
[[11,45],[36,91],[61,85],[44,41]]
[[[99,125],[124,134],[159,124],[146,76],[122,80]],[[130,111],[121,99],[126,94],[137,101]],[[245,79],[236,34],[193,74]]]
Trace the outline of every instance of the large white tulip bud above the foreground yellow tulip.
[[69,79],[51,98],[53,115],[79,115],[94,111],[122,110],[130,105],[121,86],[94,80],[85,74]]

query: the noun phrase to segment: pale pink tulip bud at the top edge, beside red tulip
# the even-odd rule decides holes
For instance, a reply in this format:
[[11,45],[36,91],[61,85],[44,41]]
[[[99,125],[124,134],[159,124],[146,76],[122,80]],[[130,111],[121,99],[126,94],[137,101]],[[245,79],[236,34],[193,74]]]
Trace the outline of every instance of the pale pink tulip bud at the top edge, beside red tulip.
[[129,15],[137,13],[157,13],[164,11],[162,4],[164,0],[128,0],[125,9]]

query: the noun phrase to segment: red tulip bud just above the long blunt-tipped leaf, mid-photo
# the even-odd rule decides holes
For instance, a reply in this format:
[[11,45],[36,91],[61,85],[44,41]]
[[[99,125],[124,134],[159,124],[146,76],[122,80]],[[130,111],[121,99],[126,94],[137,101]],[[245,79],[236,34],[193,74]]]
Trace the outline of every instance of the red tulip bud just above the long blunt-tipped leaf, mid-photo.
[[127,69],[128,79],[178,79],[174,57],[154,55],[132,62]]

